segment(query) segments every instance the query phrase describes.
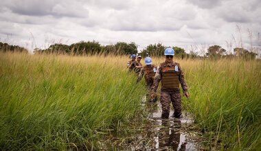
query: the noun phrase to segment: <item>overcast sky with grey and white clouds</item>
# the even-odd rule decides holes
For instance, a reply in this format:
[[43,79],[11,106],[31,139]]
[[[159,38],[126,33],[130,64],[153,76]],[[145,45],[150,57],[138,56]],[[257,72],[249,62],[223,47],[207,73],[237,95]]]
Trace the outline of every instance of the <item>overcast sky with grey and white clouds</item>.
[[260,45],[260,8],[260,0],[1,0],[0,41],[28,49],[96,40],[229,51],[241,39],[245,48]]

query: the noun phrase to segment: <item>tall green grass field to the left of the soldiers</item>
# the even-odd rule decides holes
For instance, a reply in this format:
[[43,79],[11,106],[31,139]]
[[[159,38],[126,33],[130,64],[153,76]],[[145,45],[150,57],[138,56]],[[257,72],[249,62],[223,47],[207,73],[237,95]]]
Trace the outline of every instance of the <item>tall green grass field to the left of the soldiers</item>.
[[126,57],[0,54],[0,150],[98,149],[143,110]]

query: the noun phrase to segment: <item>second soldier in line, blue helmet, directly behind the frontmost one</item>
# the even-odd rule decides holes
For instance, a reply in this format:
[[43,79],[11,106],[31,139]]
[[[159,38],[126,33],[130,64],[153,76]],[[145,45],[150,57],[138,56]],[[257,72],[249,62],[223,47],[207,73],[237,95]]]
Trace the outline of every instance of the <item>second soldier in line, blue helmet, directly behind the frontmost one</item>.
[[[153,81],[154,81],[154,77],[155,77],[157,67],[155,65],[152,65],[152,59],[150,57],[145,58],[145,64],[146,65],[144,67],[142,67],[141,71],[139,72],[137,82],[139,82],[144,77],[145,82],[146,82],[146,88],[150,93],[150,89],[151,89],[151,86],[152,86]],[[144,74],[145,74],[145,76],[144,76]],[[148,101],[149,102],[156,102],[157,97],[155,97],[153,99],[150,98]]]

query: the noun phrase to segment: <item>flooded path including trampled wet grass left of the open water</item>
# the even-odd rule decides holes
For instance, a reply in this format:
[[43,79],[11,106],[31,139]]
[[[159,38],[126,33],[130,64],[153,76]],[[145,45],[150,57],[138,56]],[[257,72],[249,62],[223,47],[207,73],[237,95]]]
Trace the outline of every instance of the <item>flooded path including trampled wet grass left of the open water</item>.
[[[196,132],[189,130],[194,120],[188,113],[181,119],[161,119],[159,103],[144,103],[147,117],[111,131],[100,140],[100,150],[197,150]],[[128,129],[126,129],[128,127]]]

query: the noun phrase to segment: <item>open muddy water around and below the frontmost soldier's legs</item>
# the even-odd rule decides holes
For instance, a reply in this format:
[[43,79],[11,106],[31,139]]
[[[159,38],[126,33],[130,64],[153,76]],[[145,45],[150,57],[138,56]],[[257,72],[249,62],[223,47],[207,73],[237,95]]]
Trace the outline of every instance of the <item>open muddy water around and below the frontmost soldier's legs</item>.
[[183,112],[183,117],[177,119],[172,117],[173,110],[170,111],[169,119],[161,119],[161,106],[159,104],[150,104],[154,106],[148,119],[155,125],[157,132],[155,137],[157,150],[196,150],[196,143],[192,139],[196,137],[194,132],[188,130],[193,126],[194,120],[188,113]]

